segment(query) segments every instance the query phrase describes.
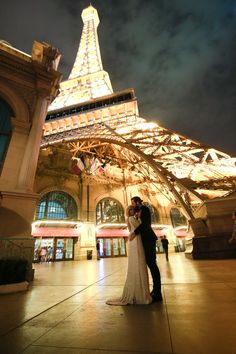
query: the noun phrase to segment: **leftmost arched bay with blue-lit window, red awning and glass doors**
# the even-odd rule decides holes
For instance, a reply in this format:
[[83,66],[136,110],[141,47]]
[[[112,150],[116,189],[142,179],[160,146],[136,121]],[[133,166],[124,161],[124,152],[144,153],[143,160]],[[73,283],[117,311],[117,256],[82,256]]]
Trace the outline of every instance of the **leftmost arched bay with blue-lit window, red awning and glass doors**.
[[76,202],[68,193],[53,191],[39,200],[34,223],[38,227],[33,231],[35,262],[74,258],[77,214]]

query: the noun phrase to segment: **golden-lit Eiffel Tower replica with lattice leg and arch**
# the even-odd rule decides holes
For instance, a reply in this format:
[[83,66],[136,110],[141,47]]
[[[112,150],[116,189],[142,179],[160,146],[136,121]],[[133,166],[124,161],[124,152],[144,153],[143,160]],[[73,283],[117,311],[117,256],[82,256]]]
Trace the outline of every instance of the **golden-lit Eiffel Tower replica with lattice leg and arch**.
[[71,160],[82,153],[96,156],[109,168],[104,174],[84,173],[88,185],[138,185],[143,195],[181,208],[195,236],[215,234],[214,225],[206,223],[206,205],[220,201],[229,217],[236,158],[140,117],[134,90],[114,93],[103,70],[97,10],[90,5],[82,20],[75,63],[49,107],[41,151],[65,149]]

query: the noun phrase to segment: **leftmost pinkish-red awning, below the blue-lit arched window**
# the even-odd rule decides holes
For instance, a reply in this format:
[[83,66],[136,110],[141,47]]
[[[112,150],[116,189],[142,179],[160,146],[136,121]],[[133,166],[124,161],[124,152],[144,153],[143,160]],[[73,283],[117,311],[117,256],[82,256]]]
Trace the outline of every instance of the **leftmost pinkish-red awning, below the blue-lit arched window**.
[[34,237],[78,237],[78,229],[71,227],[35,227],[32,236]]

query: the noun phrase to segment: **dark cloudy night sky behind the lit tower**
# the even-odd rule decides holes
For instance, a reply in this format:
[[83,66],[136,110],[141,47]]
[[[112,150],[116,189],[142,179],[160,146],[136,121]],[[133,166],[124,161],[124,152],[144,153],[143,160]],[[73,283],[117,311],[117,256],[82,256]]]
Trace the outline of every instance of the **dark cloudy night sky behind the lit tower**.
[[[34,40],[62,53],[66,80],[87,0],[1,0],[0,38],[26,53]],[[236,155],[236,1],[95,0],[104,70],[134,88],[140,115]]]

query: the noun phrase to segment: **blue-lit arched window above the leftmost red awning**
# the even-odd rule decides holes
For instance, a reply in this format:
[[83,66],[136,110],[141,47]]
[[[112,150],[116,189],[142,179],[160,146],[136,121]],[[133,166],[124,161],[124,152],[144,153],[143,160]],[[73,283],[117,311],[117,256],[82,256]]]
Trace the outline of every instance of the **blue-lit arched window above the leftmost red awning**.
[[40,199],[37,205],[35,219],[77,219],[76,203],[74,199],[65,192],[47,193]]

